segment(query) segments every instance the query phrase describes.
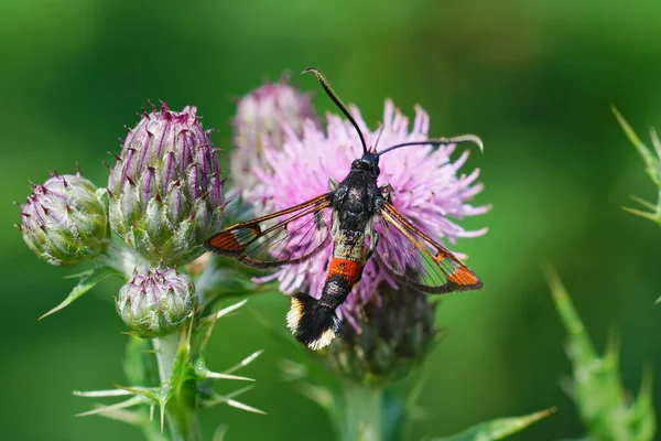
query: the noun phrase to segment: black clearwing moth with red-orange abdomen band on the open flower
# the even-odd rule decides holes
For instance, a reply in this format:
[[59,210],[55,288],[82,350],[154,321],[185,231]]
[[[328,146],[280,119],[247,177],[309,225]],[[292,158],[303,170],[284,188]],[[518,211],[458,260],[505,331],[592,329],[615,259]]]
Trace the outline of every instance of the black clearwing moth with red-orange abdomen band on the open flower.
[[[205,247],[232,256],[245,265],[273,268],[301,263],[333,244],[333,255],[319,299],[292,295],[288,327],[311,349],[342,336],[335,311],[360,280],[365,263],[376,258],[398,283],[429,293],[479,290],[480,279],[445,247],[402,216],[392,205],[389,184],[378,184],[380,158],[395,149],[481,141],[473,135],[404,142],[377,151],[324,75],[310,67],[322,87],[356,129],[362,157],[353,161],[346,178],[329,179],[328,192],[290,208],[232,225],[212,236]],[[379,226],[376,228],[376,226]],[[382,244],[377,250],[378,244]],[[402,259],[401,256],[404,256]]]

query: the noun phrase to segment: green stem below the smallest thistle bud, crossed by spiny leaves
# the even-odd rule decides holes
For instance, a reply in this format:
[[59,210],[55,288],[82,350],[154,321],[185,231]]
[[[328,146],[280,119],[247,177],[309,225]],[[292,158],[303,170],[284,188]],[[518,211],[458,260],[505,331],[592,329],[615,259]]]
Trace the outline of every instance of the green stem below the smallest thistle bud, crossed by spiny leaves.
[[[180,334],[173,333],[153,340],[159,378],[162,385],[170,385],[172,366],[180,347]],[[172,441],[198,441],[202,439],[199,421],[194,406],[194,385],[184,381],[180,390],[172,390],[172,396],[165,407],[165,421]]]

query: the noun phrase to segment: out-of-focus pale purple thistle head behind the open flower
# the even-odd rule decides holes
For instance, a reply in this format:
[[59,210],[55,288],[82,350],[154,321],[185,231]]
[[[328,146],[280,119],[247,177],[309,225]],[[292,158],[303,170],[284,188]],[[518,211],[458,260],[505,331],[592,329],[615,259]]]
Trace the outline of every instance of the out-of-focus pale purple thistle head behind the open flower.
[[256,161],[268,166],[262,148],[281,149],[285,138],[283,125],[300,136],[303,121],[315,118],[316,111],[310,95],[289,85],[286,77],[279,83],[266,84],[242,97],[234,118],[235,151],[230,160],[232,180],[237,187],[248,190],[252,186],[256,181]]

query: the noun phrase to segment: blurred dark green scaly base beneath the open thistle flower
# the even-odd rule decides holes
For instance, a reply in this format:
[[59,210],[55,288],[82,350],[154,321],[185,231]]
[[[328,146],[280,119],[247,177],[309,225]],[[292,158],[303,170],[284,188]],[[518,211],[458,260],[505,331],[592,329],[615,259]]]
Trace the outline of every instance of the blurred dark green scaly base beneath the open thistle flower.
[[345,326],[326,353],[343,378],[382,385],[404,377],[420,363],[435,340],[436,303],[407,287],[381,283],[359,318],[360,333]]

